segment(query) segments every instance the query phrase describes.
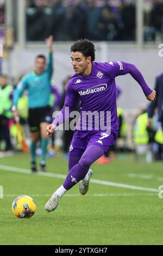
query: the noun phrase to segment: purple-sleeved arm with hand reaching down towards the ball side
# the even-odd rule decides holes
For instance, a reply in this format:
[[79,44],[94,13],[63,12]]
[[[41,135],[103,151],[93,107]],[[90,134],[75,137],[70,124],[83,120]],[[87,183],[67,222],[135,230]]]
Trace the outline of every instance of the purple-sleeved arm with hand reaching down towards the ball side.
[[63,123],[70,117],[70,113],[76,106],[78,96],[73,89],[71,82],[68,83],[65,97],[65,104],[61,111],[58,113],[57,117],[54,119],[53,123],[47,126],[47,136],[52,136],[55,128]]

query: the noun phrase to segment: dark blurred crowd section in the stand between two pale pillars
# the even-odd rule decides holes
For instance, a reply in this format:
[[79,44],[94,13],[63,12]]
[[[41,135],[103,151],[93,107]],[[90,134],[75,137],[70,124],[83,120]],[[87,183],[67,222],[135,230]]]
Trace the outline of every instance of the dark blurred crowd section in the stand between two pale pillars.
[[27,41],[135,40],[135,1],[26,1]]

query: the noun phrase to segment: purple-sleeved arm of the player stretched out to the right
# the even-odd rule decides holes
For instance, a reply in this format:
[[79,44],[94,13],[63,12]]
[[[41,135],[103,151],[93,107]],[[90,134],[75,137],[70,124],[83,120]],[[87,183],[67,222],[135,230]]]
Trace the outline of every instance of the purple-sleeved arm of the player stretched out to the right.
[[155,96],[156,96],[155,90],[152,90],[151,88],[148,87],[141,72],[136,68],[135,65],[131,63],[126,63],[126,62],[110,62],[110,63],[112,63],[112,65],[109,64],[109,68],[111,66],[110,75],[112,76],[112,78],[115,78],[116,76],[130,74],[137,81],[137,83],[140,84],[147,100],[152,102],[155,101]]

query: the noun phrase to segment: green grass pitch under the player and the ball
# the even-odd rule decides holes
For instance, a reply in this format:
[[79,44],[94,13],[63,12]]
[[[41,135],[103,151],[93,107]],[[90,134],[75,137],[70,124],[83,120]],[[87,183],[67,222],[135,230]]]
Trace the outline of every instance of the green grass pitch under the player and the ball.
[[[5,157],[0,164],[29,169],[29,155]],[[47,166],[49,172],[67,173],[67,161],[60,157],[48,159]],[[95,163],[92,169],[92,179],[156,189],[163,185],[161,162],[138,163],[131,154],[120,155],[111,164]],[[48,213],[44,210],[47,194],[52,194],[62,181],[0,169],[4,189],[4,198],[0,199],[0,245],[163,244],[163,199],[157,192],[92,183],[89,192],[80,196],[77,184],[61,199],[57,210]],[[37,205],[30,219],[18,219],[11,212],[12,201],[22,194],[33,197]]]

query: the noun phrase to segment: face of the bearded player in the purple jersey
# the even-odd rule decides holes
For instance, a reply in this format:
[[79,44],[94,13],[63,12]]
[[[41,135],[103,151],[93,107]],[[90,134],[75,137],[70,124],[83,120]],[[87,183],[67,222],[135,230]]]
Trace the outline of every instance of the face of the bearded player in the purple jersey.
[[71,53],[71,64],[76,74],[84,74],[90,63],[91,57],[86,58],[81,52]]

